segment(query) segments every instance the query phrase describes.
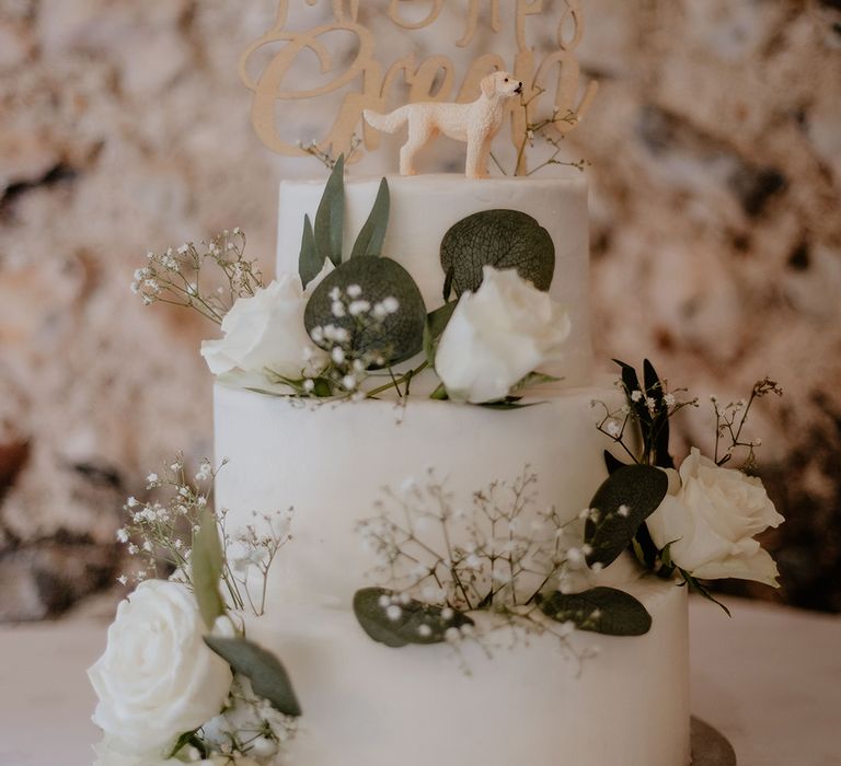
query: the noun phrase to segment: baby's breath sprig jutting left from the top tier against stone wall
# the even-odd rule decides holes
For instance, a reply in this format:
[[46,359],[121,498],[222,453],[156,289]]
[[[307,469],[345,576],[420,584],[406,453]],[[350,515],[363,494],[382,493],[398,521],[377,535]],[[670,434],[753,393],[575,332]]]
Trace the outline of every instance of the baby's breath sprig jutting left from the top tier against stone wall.
[[[163,253],[149,252],[146,266],[135,271],[131,292],[140,295],[146,305],[169,303],[194,309],[221,324],[238,299],[250,298],[263,287],[257,263],[245,258],[244,252],[245,234],[240,229],[226,229],[209,242],[187,242]],[[208,265],[219,274],[208,277]]]

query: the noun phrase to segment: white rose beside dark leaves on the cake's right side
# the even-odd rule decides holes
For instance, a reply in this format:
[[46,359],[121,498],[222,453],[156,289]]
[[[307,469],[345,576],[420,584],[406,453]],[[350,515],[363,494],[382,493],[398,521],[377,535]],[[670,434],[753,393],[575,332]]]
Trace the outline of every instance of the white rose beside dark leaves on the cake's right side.
[[701,579],[776,585],[776,565],[753,536],[784,519],[762,481],[717,466],[694,448],[680,475],[669,474],[669,494],[647,521],[657,547],[671,543],[675,564]]

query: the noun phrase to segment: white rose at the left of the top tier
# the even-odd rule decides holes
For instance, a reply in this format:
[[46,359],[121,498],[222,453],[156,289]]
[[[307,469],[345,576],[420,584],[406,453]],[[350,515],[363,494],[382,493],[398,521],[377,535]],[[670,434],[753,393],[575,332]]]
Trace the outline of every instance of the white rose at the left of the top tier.
[[253,298],[240,298],[222,320],[224,337],[201,344],[210,372],[220,375],[231,370],[262,372],[270,368],[297,379],[303,370],[313,369],[324,352],[307,334],[303,311],[309,292],[327,272],[325,267],[307,291],[297,274],[281,274]]

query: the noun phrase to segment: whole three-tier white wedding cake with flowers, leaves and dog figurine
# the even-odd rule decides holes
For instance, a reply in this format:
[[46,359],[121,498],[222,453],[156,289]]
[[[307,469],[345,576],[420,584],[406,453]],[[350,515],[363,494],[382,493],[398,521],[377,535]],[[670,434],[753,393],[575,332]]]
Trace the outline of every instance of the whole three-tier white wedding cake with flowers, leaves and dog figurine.
[[[272,281],[238,229],[135,274],[220,325],[216,457],[126,503],[140,564],[90,670],[100,766],[702,757],[687,592],[775,583],[753,536],[782,518],[726,464],[779,390],[714,402],[715,460],[676,466],[669,421],[698,401],[592,359],[584,175],[486,177],[525,89],[496,71],[470,104],[365,109],[408,124],[404,175],[301,150],[331,172],[280,183]],[[520,152],[575,120],[527,119]],[[465,175],[412,175],[436,132]]]

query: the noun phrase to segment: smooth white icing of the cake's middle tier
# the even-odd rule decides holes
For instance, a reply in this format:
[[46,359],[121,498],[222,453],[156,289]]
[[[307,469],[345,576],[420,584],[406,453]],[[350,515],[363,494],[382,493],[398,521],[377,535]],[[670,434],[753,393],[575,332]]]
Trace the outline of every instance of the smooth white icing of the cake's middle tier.
[[587,508],[607,477],[610,445],[594,399],[622,404],[611,385],[551,391],[499,411],[425,398],[315,405],[217,383],[216,457],[228,464],[216,504],[228,509],[230,531],[260,530],[254,512],[293,508],[292,539],[272,568],[273,601],[348,606],[357,589],[375,584],[377,558],[359,524],[380,513],[385,489],[399,504],[407,488],[434,480],[452,508],[469,510],[475,492],[531,475],[518,523],[550,508],[563,520]]

